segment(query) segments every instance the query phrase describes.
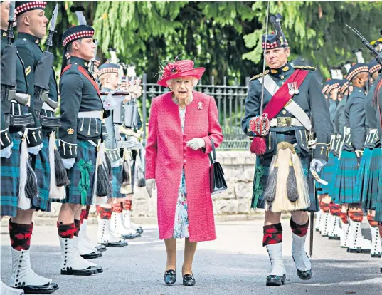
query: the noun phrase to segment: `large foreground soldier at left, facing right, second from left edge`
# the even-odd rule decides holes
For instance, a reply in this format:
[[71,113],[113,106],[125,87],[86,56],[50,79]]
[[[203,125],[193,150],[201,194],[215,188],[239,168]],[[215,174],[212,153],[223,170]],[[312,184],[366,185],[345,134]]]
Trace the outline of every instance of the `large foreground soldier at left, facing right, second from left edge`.
[[[48,23],[48,19],[44,15],[45,6],[45,1],[16,1],[15,9],[18,36],[14,41],[14,45],[23,61],[28,95],[31,96],[28,113],[33,118],[33,124],[28,125],[26,140],[28,152],[31,155],[31,167],[36,173],[36,189],[38,189],[31,196],[31,205],[28,206],[30,209],[27,207],[24,207],[24,210],[19,209],[16,217],[12,217],[9,221],[13,258],[11,285],[18,286],[26,293],[53,293],[58,289],[57,284],[52,283],[51,279],[46,279],[34,273],[29,259],[33,213],[36,210],[50,211],[51,209],[51,201],[49,200],[51,170],[48,160],[48,137],[53,131],[51,126],[54,127],[55,124],[59,124],[59,119],[55,118],[55,110],[48,105],[46,105],[46,108],[45,105],[43,107],[43,102],[35,95],[35,71],[43,55],[39,43],[41,38],[46,36],[46,24]],[[50,101],[56,102],[58,93],[53,68],[51,68],[50,78],[50,81],[47,81],[49,85],[48,96]],[[18,112],[20,112],[20,108],[18,108]],[[49,127],[46,128],[45,123],[51,123],[51,125],[48,124]],[[20,239],[20,237],[27,237],[27,239]]]

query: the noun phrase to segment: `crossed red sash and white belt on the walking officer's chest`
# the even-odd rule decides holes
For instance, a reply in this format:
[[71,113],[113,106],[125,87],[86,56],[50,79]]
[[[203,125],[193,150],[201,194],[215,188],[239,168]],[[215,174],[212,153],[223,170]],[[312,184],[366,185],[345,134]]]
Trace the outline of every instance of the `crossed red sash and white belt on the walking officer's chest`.
[[[270,102],[267,103],[265,106],[265,109],[263,113],[268,114],[268,119],[271,120],[272,118],[275,118],[278,113],[280,113],[280,110],[282,108],[287,108],[292,115],[295,115],[295,117],[304,125],[305,128],[308,130],[312,129],[312,124],[310,123],[310,119],[307,116],[307,114],[295,103],[292,98],[295,94],[290,94],[288,89],[288,83],[297,82],[297,88],[301,86],[302,82],[304,82],[305,78],[307,77],[308,71],[303,70],[296,70],[292,73],[290,78],[287,78],[287,81],[279,87],[277,86],[276,82],[270,78],[269,75],[264,76],[264,87],[267,89],[267,91],[272,95],[272,98],[270,99]],[[262,78],[259,79],[260,83],[262,83]],[[298,108],[300,110],[298,110]],[[288,109],[290,108],[290,109]],[[292,111],[291,111],[292,110]],[[303,117],[304,115],[305,118]],[[309,123],[307,123],[306,119],[309,119]],[[309,126],[310,125],[310,126]],[[309,127],[309,128],[308,128]]]

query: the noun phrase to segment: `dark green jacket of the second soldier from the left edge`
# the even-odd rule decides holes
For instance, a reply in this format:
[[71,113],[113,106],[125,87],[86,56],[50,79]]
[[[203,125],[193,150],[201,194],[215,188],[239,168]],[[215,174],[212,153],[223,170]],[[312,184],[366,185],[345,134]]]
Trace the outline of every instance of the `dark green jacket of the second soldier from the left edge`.
[[[35,70],[38,61],[41,60],[43,56],[43,51],[39,46],[41,39],[36,38],[28,33],[18,33],[14,45],[17,47],[18,52],[20,53],[21,58],[24,62],[24,67],[26,68],[26,79],[28,81],[28,93],[31,95],[31,108],[29,112],[35,118],[36,124],[29,128],[28,139],[31,141],[31,145],[38,145],[41,143],[42,136],[48,135],[51,133],[54,128],[48,127],[48,125],[41,124],[41,116],[44,118],[55,118],[55,110],[51,109],[43,103],[41,100],[36,100],[34,97],[34,78]],[[57,82],[55,81],[55,73],[53,68],[51,69],[51,78],[49,80],[49,94],[48,97],[53,101],[58,101],[58,88]],[[41,129],[41,125],[42,129]],[[33,135],[35,133],[35,136]],[[37,136],[38,135],[38,136]],[[33,144],[36,142],[36,139],[39,143]]]

